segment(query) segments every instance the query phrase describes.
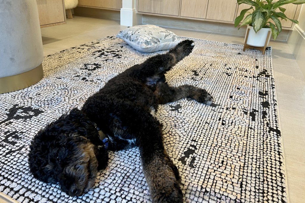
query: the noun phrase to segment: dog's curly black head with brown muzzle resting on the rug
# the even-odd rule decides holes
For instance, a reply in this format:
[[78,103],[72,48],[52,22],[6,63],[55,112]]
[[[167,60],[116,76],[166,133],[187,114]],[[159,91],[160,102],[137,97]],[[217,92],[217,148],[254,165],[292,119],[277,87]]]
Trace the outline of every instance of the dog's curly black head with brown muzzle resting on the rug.
[[35,135],[29,152],[30,172],[38,180],[59,183],[70,196],[88,192],[98,168],[108,162],[107,152],[92,144],[90,136],[98,136],[94,124],[80,110],[71,110]]

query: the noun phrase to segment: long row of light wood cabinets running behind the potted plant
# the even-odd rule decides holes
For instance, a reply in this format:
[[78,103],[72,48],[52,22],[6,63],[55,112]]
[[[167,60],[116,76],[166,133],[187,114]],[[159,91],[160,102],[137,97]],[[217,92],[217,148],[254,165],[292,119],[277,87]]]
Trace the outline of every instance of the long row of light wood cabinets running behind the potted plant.
[[[80,1],[80,0],[79,0]],[[82,0],[85,1],[85,0]],[[278,1],[278,0],[274,0]],[[236,0],[137,0],[139,14],[196,19],[221,23],[234,23],[242,9],[249,5],[238,5]],[[288,4],[286,16],[298,19],[302,5]],[[283,29],[292,29],[292,22],[282,20]]]

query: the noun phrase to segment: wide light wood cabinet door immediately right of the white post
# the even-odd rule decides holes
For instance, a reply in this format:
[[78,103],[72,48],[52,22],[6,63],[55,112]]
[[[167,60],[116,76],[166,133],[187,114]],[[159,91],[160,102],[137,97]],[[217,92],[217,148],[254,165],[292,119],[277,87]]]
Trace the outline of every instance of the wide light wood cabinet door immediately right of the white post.
[[138,0],[138,12],[178,16],[180,0]]

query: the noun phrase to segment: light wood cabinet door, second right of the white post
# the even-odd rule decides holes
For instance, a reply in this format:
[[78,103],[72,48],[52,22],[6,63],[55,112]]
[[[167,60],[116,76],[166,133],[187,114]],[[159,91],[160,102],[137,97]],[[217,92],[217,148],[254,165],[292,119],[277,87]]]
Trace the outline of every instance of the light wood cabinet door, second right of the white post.
[[182,0],[180,16],[206,18],[208,0]]

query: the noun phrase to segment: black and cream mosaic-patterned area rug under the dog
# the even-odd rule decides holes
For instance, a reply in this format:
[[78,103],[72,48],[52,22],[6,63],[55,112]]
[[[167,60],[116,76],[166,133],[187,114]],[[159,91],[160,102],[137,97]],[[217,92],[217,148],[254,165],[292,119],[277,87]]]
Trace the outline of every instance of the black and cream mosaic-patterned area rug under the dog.
[[[262,55],[241,45],[194,41],[192,54],[167,81],[205,88],[214,103],[183,99],[160,105],[156,114],[185,202],[287,202],[271,48]],[[39,129],[157,53],[106,37],[45,57],[40,82],[0,95],[0,191],[20,202],[151,202],[137,148],[110,152],[94,188],[74,198],[34,179],[27,153]]]

